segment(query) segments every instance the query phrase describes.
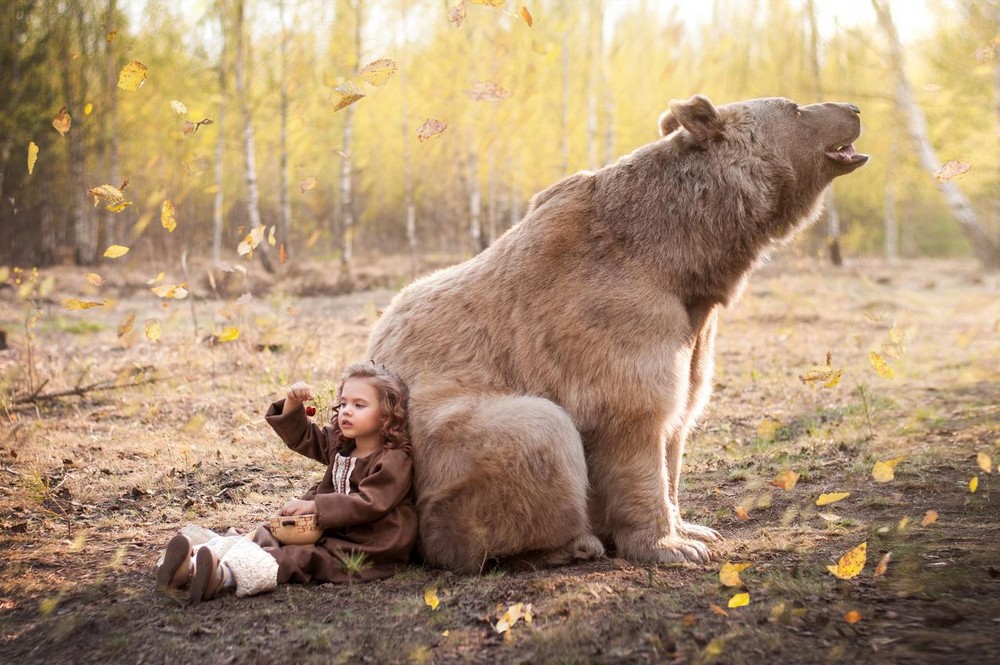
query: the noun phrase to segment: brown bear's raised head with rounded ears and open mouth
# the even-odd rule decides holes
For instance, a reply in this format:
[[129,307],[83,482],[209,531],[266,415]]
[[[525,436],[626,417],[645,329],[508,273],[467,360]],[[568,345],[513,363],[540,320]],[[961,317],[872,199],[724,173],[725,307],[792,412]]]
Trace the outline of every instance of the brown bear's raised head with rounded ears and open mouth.
[[800,183],[812,181],[823,188],[868,161],[868,155],[854,149],[861,135],[860,113],[853,104],[799,106],[781,97],[715,106],[708,97],[695,95],[671,102],[659,124],[662,136],[680,131],[679,138],[692,148],[736,145],[783,162]]

